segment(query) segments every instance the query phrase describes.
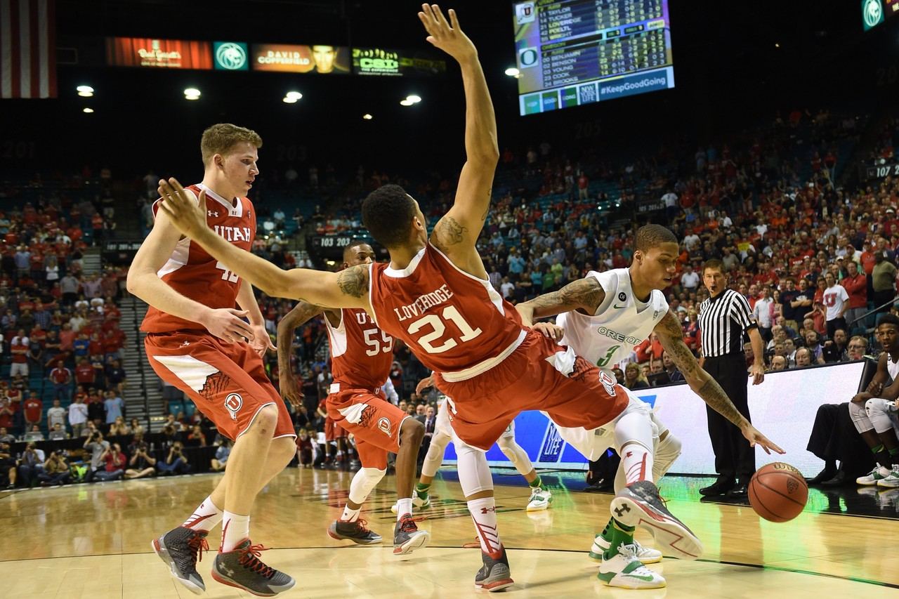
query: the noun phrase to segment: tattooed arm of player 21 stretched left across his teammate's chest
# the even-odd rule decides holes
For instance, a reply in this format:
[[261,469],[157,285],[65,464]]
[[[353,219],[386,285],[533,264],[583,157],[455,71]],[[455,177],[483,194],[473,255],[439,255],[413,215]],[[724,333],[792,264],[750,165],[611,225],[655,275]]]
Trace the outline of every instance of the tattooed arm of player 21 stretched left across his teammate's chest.
[[228,243],[207,226],[206,192],[200,192],[199,202],[191,201],[181,183],[169,179],[160,182],[159,194],[163,198],[159,210],[168,215],[175,228],[203,246],[209,255],[225,264],[228,270],[265,291],[267,295],[273,298],[305,299],[328,308],[371,310],[367,264],[353,266],[340,273],[305,268],[281,270],[258,255]]

